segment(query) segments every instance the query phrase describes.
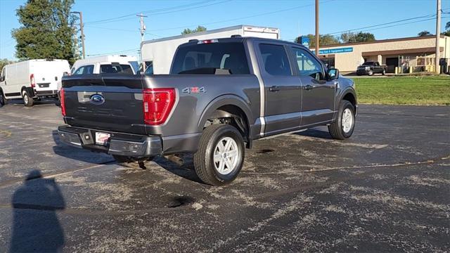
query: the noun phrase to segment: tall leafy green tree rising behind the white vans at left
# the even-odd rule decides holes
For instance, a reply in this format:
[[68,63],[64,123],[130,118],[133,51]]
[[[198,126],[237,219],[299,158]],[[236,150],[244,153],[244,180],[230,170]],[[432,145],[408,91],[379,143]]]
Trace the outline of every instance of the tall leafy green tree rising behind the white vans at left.
[[74,0],[28,0],[16,13],[22,26],[11,32],[20,60],[55,58],[75,62]]

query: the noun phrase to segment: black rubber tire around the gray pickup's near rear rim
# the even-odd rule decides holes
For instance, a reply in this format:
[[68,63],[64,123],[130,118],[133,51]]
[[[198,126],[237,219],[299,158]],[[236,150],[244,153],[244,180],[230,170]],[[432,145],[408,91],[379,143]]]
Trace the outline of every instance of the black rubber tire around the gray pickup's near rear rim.
[[[226,137],[232,138],[236,143],[238,152],[236,159],[238,160],[229,173],[221,174],[214,164],[214,152],[219,141]],[[242,169],[244,157],[244,140],[238,129],[228,124],[213,124],[203,130],[200,145],[193,156],[193,162],[195,172],[201,181],[212,186],[224,186],[236,179]]]

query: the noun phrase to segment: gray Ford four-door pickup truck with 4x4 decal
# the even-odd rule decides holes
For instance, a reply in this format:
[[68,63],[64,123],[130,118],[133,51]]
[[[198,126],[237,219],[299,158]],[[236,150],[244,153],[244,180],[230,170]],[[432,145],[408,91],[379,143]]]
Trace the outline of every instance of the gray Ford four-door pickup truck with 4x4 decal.
[[192,40],[171,74],[64,77],[60,140],[118,162],[193,153],[215,186],[233,181],[252,141],[312,126],[352,136],[356,93],[300,44],[231,37]]

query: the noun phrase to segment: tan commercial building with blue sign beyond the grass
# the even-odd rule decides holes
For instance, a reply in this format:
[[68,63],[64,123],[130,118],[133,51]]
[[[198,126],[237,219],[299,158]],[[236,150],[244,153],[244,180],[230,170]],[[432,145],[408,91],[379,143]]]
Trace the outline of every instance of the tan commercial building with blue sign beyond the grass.
[[[399,73],[434,71],[436,37],[409,37],[383,39],[371,42],[321,46],[319,57],[342,73],[356,72],[356,67],[366,61],[387,65],[387,72]],[[311,48],[314,50],[314,48]],[[450,37],[441,35],[439,51],[442,72],[449,72]]]

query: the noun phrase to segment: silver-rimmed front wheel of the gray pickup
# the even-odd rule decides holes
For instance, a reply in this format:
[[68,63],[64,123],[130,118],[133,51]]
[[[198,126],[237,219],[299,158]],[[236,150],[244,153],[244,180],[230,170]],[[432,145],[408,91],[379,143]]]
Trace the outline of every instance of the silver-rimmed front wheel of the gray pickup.
[[338,140],[350,138],[353,134],[355,118],[354,106],[347,100],[342,100],[339,105],[339,115],[335,122],[328,125],[331,136]]

